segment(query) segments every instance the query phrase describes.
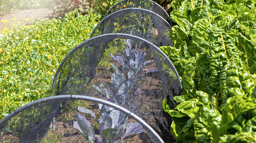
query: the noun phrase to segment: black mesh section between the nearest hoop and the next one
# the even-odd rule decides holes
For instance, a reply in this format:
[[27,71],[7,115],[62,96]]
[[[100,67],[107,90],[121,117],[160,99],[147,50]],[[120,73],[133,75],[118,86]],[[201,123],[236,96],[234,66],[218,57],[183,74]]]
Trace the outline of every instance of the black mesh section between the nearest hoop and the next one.
[[178,73],[152,43],[127,34],[91,38],[62,61],[53,81],[53,95],[76,94],[107,99],[145,120],[161,135],[170,119],[161,101],[179,95]]

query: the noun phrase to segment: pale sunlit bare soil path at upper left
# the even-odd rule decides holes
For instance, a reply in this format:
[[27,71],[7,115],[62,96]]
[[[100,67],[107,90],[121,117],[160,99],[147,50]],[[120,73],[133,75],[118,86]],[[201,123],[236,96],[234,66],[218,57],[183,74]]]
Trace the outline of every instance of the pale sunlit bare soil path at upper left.
[[[37,19],[47,19],[52,15],[52,10],[44,9],[28,9],[28,10],[14,10],[10,11],[0,17],[0,20],[8,20],[8,23],[3,23],[0,21],[0,30],[4,28],[11,29],[12,24],[17,24],[17,22],[24,22],[24,24],[29,24],[31,20]],[[13,20],[15,18],[16,20]],[[29,21],[24,19],[28,18]]]

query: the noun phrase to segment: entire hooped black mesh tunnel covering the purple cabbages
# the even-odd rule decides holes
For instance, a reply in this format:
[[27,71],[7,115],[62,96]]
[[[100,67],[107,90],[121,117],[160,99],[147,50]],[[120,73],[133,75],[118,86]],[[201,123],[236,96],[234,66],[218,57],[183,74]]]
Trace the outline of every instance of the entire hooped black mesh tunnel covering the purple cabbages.
[[[168,21],[168,22],[167,22]],[[52,96],[28,103],[0,121],[0,135],[40,142],[64,113],[83,142],[173,142],[172,108],[179,75],[159,49],[173,46],[168,14],[151,0],[122,0],[60,63]],[[86,102],[84,102],[86,101]],[[86,107],[85,107],[86,104]],[[59,124],[58,124],[59,125]]]

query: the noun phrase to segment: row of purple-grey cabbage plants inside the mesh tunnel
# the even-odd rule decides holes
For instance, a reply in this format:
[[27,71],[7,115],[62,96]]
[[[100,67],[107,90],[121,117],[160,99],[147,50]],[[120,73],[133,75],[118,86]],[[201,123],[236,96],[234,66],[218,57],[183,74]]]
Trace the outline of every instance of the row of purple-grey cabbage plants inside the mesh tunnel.
[[[140,43],[133,44],[133,40],[126,40],[129,47],[125,48],[125,52],[119,53],[119,56],[110,54],[114,61],[118,62],[120,67],[111,64],[115,73],[111,76],[111,82],[101,84],[94,87],[99,94],[103,95],[108,101],[124,106],[125,102],[131,96],[140,94],[140,81],[144,78],[143,69],[146,65],[152,64],[152,60],[145,60],[145,52],[140,52]],[[134,48],[134,49],[133,49]],[[122,70],[122,73],[120,71]],[[149,69],[147,72],[157,71],[157,69]],[[129,104],[129,103],[128,103]],[[134,103],[131,107],[138,105]],[[96,135],[92,124],[81,114],[75,114],[77,121],[74,121],[74,128],[83,135],[90,143],[93,142],[107,142],[120,143],[121,139],[139,134],[144,131],[142,125],[139,123],[129,122],[128,117],[111,107],[98,103],[100,118],[97,120],[96,115],[88,109],[78,107],[78,110],[85,113],[89,117],[98,122],[99,133]],[[125,131],[126,129],[126,131]],[[123,135],[125,131],[125,134]]]

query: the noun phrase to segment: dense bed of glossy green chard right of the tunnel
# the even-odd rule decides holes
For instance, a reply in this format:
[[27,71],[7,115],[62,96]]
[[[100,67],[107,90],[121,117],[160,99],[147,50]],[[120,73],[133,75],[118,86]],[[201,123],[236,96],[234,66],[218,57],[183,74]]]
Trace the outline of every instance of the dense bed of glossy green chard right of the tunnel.
[[177,142],[256,142],[255,0],[174,0],[174,63],[183,92],[164,111]]

